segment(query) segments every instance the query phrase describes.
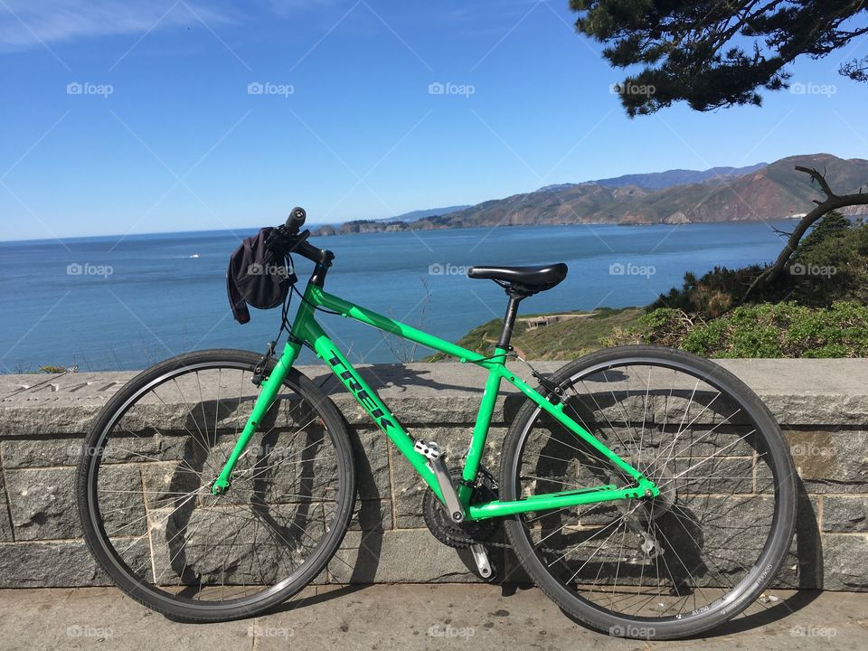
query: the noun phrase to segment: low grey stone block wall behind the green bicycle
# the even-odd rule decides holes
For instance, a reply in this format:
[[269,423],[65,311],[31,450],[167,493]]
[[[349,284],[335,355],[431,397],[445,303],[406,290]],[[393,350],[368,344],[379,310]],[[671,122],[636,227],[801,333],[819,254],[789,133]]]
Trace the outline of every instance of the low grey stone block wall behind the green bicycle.
[[[550,372],[559,363],[535,364]],[[784,429],[799,481],[797,537],[780,581],[868,590],[868,360],[733,360],[723,365],[760,394]],[[460,455],[484,374],[458,363],[377,365],[362,373],[417,439]],[[519,364],[515,370],[524,375]],[[322,367],[303,371],[335,392]],[[132,373],[0,376],[0,587],[107,583],[80,539],[75,464],[90,421]],[[510,387],[511,389],[511,387]],[[357,513],[320,581],[475,581],[466,552],[437,542],[420,513],[424,486],[362,410],[333,396],[354,428]],[[486,464],[496,467],[506,427],[523,401],[497,402]],[[363,453],[361,453],[363,451]],[[503,542],[503,538],[499,538]],[[500,575],[526,580],[495,547]]]

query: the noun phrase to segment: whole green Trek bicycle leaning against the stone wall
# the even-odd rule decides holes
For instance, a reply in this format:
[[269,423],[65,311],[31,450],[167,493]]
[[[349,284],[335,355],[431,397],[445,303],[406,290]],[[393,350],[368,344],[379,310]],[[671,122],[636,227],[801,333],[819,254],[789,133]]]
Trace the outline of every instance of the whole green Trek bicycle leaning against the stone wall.
[[[503,524],[536,585],[610,635],[695,635],[759,598],[789,551],[795,469],[743,382],[691,354],[637,345],[533,371],[534,389],[506,363],[517,308],[558,285],[566,265],[469,270],[508,295],[486,356],[325,292],[334,254],[307,241],[304,221],[293,211],[271,242],[314,263],[279,357],[272,344],[265,355],[208,350],[158,363],[90,429],[80,518],[121,590],[171,618],[215,622],[257,615],[323,573],[354,514],[360,452],[334,402],[293,365],[308,346],[429,486],[432,533],[469,548],[483,578],[495,576],[486,545]],[[317,311],[486,369],[463,464],[403,429]],[[495,476],[481,460],[502,382],[526,400]]]

